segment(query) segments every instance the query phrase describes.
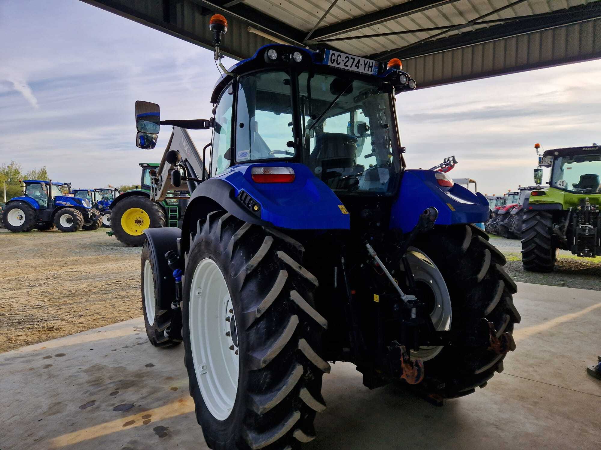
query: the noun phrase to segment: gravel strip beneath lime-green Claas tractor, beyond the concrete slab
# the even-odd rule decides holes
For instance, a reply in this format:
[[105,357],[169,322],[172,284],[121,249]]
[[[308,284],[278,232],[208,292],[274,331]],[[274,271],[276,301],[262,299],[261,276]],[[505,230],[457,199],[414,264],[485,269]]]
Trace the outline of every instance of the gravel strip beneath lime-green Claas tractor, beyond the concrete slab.
[[601,290],[601,257],[579,258],[567,250],[560,250],[555,271],[550,274],[526,272],[522,268],[522,242],[489,235],[490,242],[507,257],[505,270],[515,281],[546,284],[547,286],[578,287]]

